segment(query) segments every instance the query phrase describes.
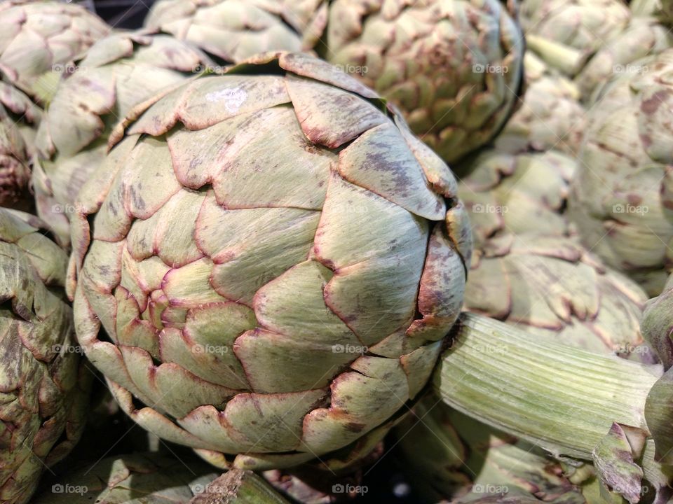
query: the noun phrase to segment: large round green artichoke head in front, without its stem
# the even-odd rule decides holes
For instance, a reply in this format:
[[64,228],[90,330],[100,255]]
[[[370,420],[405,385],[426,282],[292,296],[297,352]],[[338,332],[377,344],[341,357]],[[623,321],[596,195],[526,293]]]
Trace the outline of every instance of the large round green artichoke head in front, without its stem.
[[136,112],[79,194],[69,270],[121,407],[221,466],[366,451],[463,302],[453,174],[378,94],[296,53]]

